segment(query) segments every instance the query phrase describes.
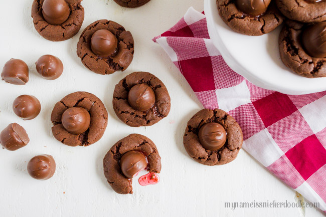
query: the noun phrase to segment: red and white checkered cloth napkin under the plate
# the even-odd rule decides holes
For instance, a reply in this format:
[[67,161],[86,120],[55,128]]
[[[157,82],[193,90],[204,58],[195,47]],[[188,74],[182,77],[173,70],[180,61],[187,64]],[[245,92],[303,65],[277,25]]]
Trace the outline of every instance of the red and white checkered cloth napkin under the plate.
[[243,148],[326,213],[326,92],[285,95],[251,84],[224,62],[206,17],[190,8],[155,37],[205,108],[221,108],[243,130]]

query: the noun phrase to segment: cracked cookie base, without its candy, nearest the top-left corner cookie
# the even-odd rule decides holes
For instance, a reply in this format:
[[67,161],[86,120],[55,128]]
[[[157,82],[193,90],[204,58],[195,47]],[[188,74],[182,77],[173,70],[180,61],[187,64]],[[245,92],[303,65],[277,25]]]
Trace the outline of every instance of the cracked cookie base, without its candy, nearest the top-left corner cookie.
[[[99,57],[91,49],[91,38],[98,30],[108,30],[115,35],[118,40],[118,51],[114,56]],[[133,59],[133,38],[129,31],[108,20],[95,21],[81,34],[77,44],[77,55],[81,62],[89,70],[98,74],[112,74],[116,71],[124,71]]]

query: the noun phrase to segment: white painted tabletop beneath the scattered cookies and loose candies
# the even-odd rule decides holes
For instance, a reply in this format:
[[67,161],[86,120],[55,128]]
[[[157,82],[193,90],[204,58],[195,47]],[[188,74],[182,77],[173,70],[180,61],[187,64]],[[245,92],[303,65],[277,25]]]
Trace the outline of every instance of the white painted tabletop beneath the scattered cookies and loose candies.
[[[131,66],[107,76],[94,74],[81,64],[76,55],[81,32],[59,43],[41,38],[33,27],[31,5],[32,0],[11,0],[2,1],[0,7],[0,67],[10,58],[23,59],[30,67],[27,85],[0,82],[0,130],[17,122],[31,139],[18,151],[0,150],[0,216],[301,216],[297,208],[224,208],[224,202],[231,201],[295,201],[295,192],[243,150],[230,164],[208,167],[192,160],[183,147],[186,123],[202,105],[151,38],[173,26],[189,7],[202,11],[203,1],[152,0],[138,9],[123,9],[113,0],[84,0],[82,29],[93,21],[110,19],[131,31],[135,40]],[[63,60],[65,71],[59,79],[47,81],[36,73],[34,63],[44,54]],[[115,116],[111,101],[115,84],[139,70],[155,74],[166,84],[172,109],[154,126],[131,128]],[[89,147],[65,146],[51,133],[54,104],[74,91],[95,94],[109,113],[104,136]],[[13,113],[12,103],[21,94],[35,95],[41,101],[42,111],[36,119],[23,121]],[[130,133],[155,142],[162,157],[161,181],[142,187],[134,180],[134,194],[119,195],[106,182],[102,159],[116,141]],[[54,156],[57,171],[47,181],[35,180],[26,171],[27,162],[44,153]],[[315,208],[305,212],[306,216],[323,216]]]

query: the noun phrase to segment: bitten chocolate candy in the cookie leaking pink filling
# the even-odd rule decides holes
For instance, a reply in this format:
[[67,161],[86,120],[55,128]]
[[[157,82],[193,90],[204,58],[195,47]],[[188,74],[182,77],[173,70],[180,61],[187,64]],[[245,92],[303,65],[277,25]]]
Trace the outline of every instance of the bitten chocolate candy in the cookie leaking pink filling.
[[120,159],[122,173],[127,178],[133,178],[139,171],[146,168],[148,162],[144,154],[139,151],[128,151]]

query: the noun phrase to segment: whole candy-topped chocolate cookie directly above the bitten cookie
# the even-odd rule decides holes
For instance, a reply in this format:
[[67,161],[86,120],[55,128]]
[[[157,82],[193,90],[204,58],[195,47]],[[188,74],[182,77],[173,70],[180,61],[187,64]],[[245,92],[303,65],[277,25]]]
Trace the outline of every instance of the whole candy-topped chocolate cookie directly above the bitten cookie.
[[134,72],[114,89],[113,109],[131,127],[151,126],[168,116],[171,99],[166,86],[148,72]]

